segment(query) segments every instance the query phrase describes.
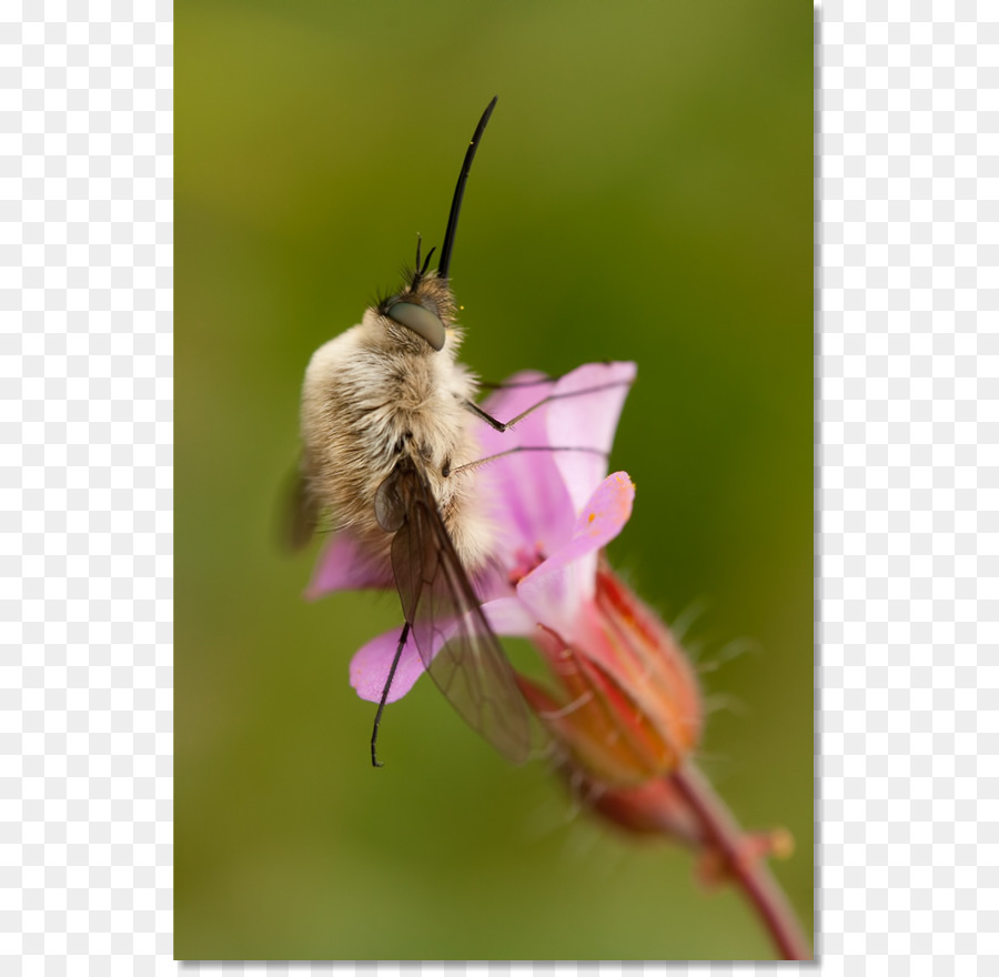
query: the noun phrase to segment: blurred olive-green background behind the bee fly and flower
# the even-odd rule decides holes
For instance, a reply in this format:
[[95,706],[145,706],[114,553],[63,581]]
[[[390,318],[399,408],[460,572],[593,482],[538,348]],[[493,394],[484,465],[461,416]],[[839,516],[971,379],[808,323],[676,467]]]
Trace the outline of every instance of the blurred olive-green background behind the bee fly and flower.
[[[702,763],[813,917],[813,10],[803,3],[176,4],[175,953],[766,958],[690,857],[595,825],[436,689],[373,707],[395,598],[275,545],[312,351],[440,244],[486,379],[635,360],[610,557],[686,642]],[[719,664],[750,639],[753,649]],[[421,683],[423,685],[423,683]]]

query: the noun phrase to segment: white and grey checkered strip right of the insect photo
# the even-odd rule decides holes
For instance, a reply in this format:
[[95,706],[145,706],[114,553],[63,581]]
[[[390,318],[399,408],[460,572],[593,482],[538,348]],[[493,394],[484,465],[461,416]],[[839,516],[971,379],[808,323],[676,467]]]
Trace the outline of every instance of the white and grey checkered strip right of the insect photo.
[[819,950],[993,974],[999,11],[823,50]]

